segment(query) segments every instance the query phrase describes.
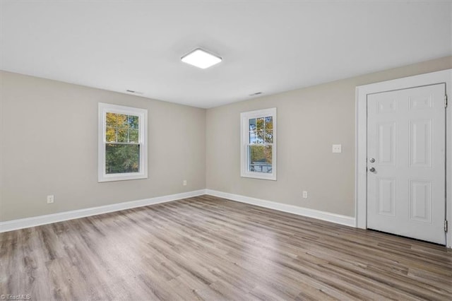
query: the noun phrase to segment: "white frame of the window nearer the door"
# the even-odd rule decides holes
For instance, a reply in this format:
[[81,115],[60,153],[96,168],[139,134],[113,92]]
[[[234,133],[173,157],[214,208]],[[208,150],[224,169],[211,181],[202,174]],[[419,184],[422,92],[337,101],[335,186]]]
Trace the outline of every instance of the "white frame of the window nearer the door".
[[[263,143],[272,146],[272,172],[251,172],[249,170],[249,119],[273,117],[273,143]],[[276,108],[240,113],[240,176],[254,179],[270,179],[276,181]]]

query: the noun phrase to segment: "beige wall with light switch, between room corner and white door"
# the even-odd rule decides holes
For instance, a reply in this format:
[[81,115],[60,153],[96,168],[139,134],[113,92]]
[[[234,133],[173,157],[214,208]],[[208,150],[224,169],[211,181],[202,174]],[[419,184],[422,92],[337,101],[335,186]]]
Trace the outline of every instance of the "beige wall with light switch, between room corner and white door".
[[[206,186],[355,216],[355,87],[450,68],[444,57],[207,110]],[[239,114],[268,107],[278,108],[278,180],[242,178]],[[331,153],[332,144],[343,152]]]

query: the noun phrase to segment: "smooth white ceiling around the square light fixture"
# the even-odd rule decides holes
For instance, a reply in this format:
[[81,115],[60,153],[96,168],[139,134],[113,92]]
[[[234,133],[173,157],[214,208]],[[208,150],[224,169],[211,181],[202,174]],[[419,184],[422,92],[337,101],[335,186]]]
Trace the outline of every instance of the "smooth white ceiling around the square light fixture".
[[[1,1],[0,69],[215,107],[452,54],[451,1]],[[180,61],[202,47],[223,61]]]

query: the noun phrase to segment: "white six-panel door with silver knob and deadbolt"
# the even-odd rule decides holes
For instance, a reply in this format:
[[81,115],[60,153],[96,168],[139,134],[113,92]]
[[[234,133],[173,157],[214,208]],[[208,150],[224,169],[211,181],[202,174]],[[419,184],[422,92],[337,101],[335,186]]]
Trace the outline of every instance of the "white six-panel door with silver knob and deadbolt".
[[445,91],[367,95],[367,228],[446,243]]

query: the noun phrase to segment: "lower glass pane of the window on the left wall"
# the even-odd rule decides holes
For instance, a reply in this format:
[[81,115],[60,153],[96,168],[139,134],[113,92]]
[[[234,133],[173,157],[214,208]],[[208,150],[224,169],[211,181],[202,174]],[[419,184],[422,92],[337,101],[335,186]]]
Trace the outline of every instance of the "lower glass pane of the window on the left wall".
[[140,170],[140,146],[138,144],[105,145],[105,173],[117,174]]

